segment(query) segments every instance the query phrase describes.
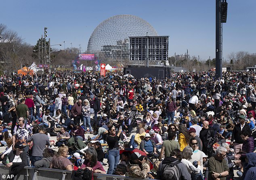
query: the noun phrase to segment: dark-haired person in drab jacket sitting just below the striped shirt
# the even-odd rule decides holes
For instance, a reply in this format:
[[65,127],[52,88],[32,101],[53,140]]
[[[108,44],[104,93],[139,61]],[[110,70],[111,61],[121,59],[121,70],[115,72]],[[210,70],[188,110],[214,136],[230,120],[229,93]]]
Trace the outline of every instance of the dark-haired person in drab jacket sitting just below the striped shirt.
[[49,168],[50,162],[52,161],[52,157],[56,154],[57,154],[57,152],[54,151],[53,149],[45,148],[44,152],[43,152],[44,157],[42,159],[36,161],[34,163],[34,166],[36,168]]

